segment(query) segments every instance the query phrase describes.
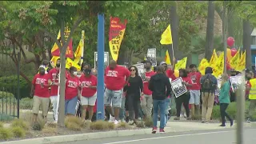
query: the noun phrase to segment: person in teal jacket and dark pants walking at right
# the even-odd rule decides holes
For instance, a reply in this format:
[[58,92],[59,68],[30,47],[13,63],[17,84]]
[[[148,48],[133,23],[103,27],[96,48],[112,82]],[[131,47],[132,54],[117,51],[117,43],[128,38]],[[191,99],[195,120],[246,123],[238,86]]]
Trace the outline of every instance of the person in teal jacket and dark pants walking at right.
[[222,116],[222,125],[220,126],[226,126],[225,124],[225,117],[230,120],[230,126],[233,126],[233,119],[230,118],[230,116],[226,113],[226,108],[230,104],[230,82],[229,82],[229,76],[227,74],[222,75],[222,84],[221,84],[221,90],[219,94],[219,103],[220,103],[220,110],[221,110],[221,116]]

